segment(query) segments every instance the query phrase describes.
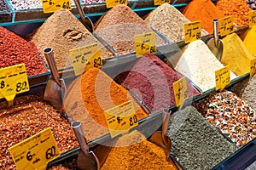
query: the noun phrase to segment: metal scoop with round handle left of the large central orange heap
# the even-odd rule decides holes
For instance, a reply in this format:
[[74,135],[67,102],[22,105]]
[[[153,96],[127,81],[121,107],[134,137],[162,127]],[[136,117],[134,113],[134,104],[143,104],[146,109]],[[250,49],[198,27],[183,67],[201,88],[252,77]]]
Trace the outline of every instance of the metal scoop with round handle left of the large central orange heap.
[[51,77],[49,78],[46,88],[44,90],[44,100],[48,101],[57,110],[61,110],[61,78],[58,73],[52,48],[44,48],[44,56],[49,65]]

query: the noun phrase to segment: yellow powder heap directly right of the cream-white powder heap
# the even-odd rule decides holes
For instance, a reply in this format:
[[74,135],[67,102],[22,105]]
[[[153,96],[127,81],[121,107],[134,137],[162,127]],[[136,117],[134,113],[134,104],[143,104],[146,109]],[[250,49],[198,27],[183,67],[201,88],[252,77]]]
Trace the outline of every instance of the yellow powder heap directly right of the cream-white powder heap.
[[238,37],[236,33],[233,33],[224,37],[222,41],[224,51],[221,62],[224,65],[230,65],[230,69],[234,71],[237,76],[250,72],[250,59],[255,59],[255,57],[247,50],[240,37]]

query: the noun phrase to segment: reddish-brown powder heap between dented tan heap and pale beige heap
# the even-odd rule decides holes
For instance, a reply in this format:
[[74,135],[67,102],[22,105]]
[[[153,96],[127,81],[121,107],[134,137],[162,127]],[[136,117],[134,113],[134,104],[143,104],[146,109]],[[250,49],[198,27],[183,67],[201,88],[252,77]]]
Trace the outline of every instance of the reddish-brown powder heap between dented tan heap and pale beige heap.
[[[96,34],[108,42],[118,54],[135,52],[134,36],[152,32],[147,23],[126,5],[117,5],[97,21]],[[165,42],[155,36],[156,47]]]

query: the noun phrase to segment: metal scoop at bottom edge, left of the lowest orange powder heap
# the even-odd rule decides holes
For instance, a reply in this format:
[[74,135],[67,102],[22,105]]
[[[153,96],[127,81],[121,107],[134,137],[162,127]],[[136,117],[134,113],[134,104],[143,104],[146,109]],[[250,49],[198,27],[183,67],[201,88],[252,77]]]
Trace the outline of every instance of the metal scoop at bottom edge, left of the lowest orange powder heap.
[[89,151],[89,145],[84,138],[84,133],[82,129],[82,124],[79,121],[71,122],[71,126],[73,127],[73,131],[79,140],[79,145],[82,151],[79,151],[78,156],[78,168],[85,170],[85,169],[100,169],[100,163],[96,155],[93,151]]

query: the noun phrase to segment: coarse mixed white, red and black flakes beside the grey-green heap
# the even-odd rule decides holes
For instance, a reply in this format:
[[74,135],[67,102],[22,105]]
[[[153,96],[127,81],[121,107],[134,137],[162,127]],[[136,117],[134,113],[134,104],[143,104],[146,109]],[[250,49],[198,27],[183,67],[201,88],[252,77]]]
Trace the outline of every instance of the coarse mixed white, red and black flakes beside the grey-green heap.
[[256,111],[236,94],[230,91],[211,94],[194,105],[238,147],[256,137]]

